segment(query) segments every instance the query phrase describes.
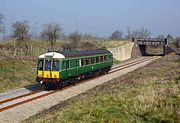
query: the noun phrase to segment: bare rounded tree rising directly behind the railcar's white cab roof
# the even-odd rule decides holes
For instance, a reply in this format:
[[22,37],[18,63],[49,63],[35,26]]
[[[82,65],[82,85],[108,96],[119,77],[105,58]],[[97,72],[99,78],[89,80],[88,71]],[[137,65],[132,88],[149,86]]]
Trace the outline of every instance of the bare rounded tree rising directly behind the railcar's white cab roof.
[[57,39],[62,36],[63,29],[58,23],[44,24],[41,36],[43,39],[50,42],[51,49],[54,49]]

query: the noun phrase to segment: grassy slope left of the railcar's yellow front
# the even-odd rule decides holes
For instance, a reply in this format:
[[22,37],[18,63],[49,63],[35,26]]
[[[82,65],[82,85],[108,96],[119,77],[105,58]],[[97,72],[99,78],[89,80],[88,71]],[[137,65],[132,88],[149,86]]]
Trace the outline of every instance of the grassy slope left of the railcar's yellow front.
[[0,92],[34,84],[35,77],[36,61],[0,60]]

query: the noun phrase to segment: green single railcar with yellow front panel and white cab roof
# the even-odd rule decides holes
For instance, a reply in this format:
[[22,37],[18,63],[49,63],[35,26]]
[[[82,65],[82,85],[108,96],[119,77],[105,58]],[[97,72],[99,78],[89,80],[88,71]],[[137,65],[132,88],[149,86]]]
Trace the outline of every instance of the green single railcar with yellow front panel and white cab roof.
[[113,55],[105,49],[50,51],[38,58],[36,81],[46,87],[71,84],[110,71]]

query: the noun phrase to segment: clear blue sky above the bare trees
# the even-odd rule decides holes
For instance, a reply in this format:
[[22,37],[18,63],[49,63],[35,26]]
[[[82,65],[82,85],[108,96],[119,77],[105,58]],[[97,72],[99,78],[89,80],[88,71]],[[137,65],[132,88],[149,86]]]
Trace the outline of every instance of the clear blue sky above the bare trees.
[[[180,0],[0,0],[7,33],[15,21],[28,20],[39,32],[42,24],[58,22],[65,34],[75,31],[107,37],[148,28],[152,36],[180,36]],[[36,27],[36,28],[35,28]]]

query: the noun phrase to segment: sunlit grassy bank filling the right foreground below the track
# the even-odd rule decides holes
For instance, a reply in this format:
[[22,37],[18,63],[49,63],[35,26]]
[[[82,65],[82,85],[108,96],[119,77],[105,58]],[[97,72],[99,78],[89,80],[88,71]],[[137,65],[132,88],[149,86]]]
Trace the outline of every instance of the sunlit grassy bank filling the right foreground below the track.
[[180,122],[180,56],[165,56],[24,122]]

